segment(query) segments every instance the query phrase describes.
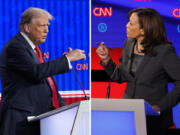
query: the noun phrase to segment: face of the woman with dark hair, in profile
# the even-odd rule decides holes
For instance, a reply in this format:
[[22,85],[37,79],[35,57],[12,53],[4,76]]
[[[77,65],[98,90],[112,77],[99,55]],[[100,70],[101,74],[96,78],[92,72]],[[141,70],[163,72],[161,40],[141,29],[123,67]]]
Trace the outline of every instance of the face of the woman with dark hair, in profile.
[[132,13],[129,18],[129,22],[126,25],[126,32],[128,38],[142,38],[144,30],[140,28],[138,16],[136,13]]

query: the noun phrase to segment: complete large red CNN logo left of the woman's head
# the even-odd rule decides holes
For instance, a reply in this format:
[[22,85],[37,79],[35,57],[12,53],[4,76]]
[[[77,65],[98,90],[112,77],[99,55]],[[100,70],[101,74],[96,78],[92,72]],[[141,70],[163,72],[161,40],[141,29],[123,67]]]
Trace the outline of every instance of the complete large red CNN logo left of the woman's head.
[[102,15],[103,16],[112,16],[112,7],[109,7],[109,8],[95,7],[93,9],[93,14],[97,17],[102,16]]

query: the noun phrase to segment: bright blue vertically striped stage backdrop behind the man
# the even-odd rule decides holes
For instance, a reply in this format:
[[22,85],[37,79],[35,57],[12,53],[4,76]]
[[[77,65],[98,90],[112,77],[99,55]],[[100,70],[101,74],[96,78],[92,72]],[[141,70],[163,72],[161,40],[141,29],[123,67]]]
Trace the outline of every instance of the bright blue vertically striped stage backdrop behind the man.
[[[19,31],[21,14],[29,7],[45,9],[54,16],[46,42],[40,45],[47,61],[62,56],[68,47],[85,50],[86,60],[72,62],[72,65],[89,94],[89,0],[1,0],[0,50]],[[83,98],[72,70],[56,75],[55,79],[64,98]]]

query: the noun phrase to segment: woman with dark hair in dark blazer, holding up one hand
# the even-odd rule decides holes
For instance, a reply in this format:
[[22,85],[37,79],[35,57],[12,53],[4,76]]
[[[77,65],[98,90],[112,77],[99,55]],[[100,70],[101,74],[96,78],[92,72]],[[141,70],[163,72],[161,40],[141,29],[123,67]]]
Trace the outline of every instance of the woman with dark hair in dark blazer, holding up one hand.
[[[172,107],[180,101],[180,60],[167,40],[160,14],[151,8],[128,13],[121,65],[116,66],[104,43],[96,52],[111,79],[127,82],[124,98],[145,99],[160,116],[147,117],[148,135],[166,135],[173,124]],[[175,87],[168,93],[168,82]]]

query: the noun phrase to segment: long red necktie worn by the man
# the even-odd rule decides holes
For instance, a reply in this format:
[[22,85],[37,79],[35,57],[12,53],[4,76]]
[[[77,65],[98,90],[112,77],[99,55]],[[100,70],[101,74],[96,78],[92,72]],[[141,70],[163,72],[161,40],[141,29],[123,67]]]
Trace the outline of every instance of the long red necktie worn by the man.
[[[41,54],[41,51],[40,51],[39,47],[36,46],[34,50],[36,51],[36,55],[38,56],[39,61],[41,63],[44,63],[44,59],[42,57],[42,54]],[[48,81],[49,81],[49,84],[51,86],[51,90],[52,90],[52,94],[53,94],[53,101],[52,101],[53,106],[55,108],[59,108],[59,101],[58,101],[58,95],[57,95],[57,91],[56,91],[56,86],[54,84],[54,81],[53,81],[52,77],[48,77]]]

